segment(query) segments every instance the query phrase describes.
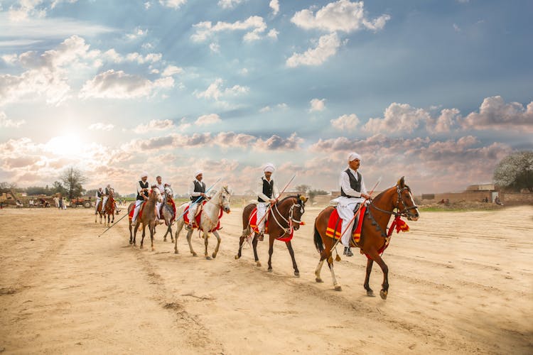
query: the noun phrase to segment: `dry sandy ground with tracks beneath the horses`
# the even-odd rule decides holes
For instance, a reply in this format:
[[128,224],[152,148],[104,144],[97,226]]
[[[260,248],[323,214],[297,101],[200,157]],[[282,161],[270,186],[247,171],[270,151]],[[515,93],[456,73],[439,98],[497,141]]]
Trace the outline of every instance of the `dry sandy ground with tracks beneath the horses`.
[[[222,219],[216,259],[183,234],[156,251],[101,238],[90,209],[0,211],[0,352],[7,354],[533,354],[533,207],[426,212],[394,234],[389,297],[366,297],[365,257],[316,283],[313,220],[293,239],[301,278],[276,242],[235,260],[241,209]],[[145,240],[146,241],[146,240]],[[210,251],[215,238],[210,239]],[[146,244],[145,244],[146,245]],[[148,244],[149,246],[149,244]],[[203,241],[193,236],[203,255]],[[382,272],[375,266],[371,286]]]

